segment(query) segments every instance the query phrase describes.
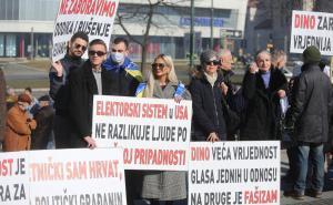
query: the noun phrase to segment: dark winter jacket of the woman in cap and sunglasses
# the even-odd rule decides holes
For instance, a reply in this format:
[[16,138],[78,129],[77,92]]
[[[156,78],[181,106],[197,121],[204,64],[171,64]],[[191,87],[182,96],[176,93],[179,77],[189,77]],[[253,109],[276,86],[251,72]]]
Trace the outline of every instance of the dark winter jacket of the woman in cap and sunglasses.
[[223,76],[220,73],[218,73],[214,86],[208,82],[203,73],[193,76],[190,83],[193,107],[192,141],[206,141],[212,132],[215,132],[220,140],[226,140],[220,88],[222,82]]

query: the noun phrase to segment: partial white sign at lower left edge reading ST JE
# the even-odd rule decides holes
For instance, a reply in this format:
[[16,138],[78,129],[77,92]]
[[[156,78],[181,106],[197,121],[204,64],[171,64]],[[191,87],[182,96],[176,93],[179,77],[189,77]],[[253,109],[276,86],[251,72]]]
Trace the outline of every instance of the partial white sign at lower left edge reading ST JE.
[[29,204],[29,160],[27,152],[0,153],[0,204]]

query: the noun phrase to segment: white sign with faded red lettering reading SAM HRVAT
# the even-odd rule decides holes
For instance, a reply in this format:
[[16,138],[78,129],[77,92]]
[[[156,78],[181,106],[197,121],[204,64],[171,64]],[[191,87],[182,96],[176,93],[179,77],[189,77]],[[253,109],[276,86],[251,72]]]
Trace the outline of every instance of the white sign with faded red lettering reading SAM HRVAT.
[[127,204],[120,148],[31,151],[29,155],[32,205]]

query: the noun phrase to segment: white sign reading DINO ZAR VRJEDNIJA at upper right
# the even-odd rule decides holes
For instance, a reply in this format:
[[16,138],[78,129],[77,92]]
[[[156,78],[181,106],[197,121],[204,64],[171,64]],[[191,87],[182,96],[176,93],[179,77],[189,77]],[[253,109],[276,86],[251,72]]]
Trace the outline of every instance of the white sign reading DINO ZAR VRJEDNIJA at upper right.
[[333,13],[293,11],[291,53],[315,45],[323,55],[333,55]]

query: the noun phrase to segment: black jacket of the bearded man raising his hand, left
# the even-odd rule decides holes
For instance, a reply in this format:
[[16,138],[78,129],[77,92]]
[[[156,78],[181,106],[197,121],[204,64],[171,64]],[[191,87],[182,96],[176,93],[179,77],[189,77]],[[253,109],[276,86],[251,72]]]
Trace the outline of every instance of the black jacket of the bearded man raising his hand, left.
[[57,115],[67,116],[68,106],[69,106],[69,75],[71,71],[75,68],[79,68],[84,62],[81,58],[74,59],[70,55],[65,55],[60,60],[63,66],[62,76],[57,76],[57,72],[53,66],[50,69],[49,79],[50,79],[50,96],[54,101],[54,109]]

